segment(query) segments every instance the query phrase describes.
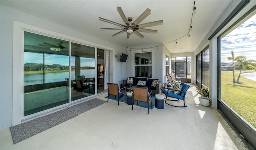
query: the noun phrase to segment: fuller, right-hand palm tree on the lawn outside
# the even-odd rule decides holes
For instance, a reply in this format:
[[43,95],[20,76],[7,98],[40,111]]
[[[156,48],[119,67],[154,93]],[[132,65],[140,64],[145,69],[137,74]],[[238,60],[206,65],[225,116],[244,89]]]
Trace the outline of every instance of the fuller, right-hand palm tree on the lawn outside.
[[239,83],[242,70],[245,70],[246,68],[252,68],[253,70],[256,70],[256,60],[253,60],[253,59],[246,60],[246,56],[237,56],[236,62],[238,64],[236,64],[235,67],[237,66],[240,67],[240,73],[238,75],[236,83]]

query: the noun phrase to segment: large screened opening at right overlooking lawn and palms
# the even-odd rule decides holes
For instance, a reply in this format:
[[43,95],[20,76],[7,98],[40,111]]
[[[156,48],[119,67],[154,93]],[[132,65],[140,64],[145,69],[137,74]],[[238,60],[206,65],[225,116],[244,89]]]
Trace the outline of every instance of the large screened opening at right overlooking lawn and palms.
[[221,38],[220,98],[256,128],[256,15]]

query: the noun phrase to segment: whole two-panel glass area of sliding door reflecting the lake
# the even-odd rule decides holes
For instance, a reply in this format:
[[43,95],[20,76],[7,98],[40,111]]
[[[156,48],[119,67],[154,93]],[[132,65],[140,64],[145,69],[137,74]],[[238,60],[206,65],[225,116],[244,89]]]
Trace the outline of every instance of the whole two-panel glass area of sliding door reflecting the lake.
[[94,47],[24,31],[23,116],[94,95],[95,53]]

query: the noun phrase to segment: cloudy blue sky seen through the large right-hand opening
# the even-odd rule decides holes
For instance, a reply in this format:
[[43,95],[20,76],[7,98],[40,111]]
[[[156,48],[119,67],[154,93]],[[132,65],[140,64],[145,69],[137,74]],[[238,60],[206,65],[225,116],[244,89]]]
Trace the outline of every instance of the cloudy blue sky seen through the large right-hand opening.
[[221,40],[221,60],[231,62],[227,58],[244,55],[248,59],[256,60],[256,15],[249,18]]

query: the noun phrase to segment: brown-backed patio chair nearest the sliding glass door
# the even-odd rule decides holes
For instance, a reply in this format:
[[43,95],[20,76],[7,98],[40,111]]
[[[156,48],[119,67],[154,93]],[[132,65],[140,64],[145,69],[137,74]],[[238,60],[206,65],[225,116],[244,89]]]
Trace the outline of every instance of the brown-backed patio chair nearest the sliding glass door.
[[[124,90],[122,90],[124,89]],[[119,105],[119,99],[122,95],[124,95],[124,101],[126,101],[126,88],[119,89],[118,84],[115,83],[108,83],[108,97],[109,95],[114,95],[115,98],[118,96],[118,105]]]

